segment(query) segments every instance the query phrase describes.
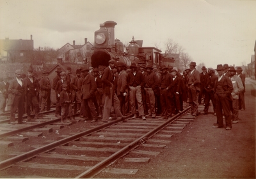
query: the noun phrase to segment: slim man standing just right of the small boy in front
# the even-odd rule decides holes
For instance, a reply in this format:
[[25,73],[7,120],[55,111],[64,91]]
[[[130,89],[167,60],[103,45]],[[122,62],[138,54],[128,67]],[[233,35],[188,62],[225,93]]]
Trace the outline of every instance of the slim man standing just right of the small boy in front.
[[81,107],[81,98],[77,95],[77,83],[78,79],[80,78],[81,72],[80,69],[76,69],[76,76],[72,76],[71,82],[70,82],[70,88],[72,89],[72,94],[71,94],[71,103],[72,103],[72,108],[74,111],[74,114],[77,112],[77,108],[80,109]]

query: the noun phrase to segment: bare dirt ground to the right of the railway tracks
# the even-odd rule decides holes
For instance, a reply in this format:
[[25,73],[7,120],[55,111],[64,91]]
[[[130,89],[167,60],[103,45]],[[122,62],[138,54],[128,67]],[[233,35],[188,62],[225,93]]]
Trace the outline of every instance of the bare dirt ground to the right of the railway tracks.
[[214,129],[216,116],[199,115],[131,178],[255,178],[255,96],[247,83],[246,110],[232,130]]

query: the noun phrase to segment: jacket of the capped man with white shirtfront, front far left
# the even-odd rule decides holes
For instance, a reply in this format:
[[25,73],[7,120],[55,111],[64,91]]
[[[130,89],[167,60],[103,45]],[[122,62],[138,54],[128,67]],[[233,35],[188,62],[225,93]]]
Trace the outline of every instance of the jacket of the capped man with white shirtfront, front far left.
[[10,81],[10,86],[8,89],[9,96],[8,96],[8,105],[12,105],[14,102],[18,102],[17,97],[23,97],[24,96],[24,84],[22,82],[22,88],[20,88],[20,84],[17,82],[17,79],[14,78],[13,80]]

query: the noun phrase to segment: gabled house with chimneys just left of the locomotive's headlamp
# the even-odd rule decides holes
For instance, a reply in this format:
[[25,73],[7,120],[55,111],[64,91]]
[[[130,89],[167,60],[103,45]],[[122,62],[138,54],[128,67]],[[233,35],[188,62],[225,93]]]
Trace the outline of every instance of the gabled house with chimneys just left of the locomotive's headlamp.
[[73,45],[66,43],[58,50],[58,58],[62,58],[63,62],[89,62],[92,55],[92,47],[92,43],[88,42],[87,38],[84,38],[84,45],[76,45],[76,41],[73,41]]

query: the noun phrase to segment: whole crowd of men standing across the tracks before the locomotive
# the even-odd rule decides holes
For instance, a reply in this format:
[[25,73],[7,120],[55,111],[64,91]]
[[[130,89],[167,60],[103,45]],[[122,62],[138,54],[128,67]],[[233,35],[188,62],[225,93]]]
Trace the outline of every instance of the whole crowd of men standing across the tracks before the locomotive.
[[[191,106],[191,115],[199,114],[198,105],[204,104],[202,114],[209,111],[212,102],[217,123],[214,128],[223,127],[223,114],[226,129],[239,121],[239,110],[245,110],[244,80],[242,69],[219,64],[216,69],[205,68],[202,73],[191,62],[183,74],[173,66],[162,65],[153,68],[152,64],[139,62],[127,66],[123,62],[109,61],[109,66],[76,69],[76,75],[56,69],[53,82],[49,72],[36,79],[36,73],[29,69],[22,75],[15,71],[15,78],[8,82],[3,76],[0,82],[0,114],[4,112],[6,101],[10,106],[11,124],[15,124],[15,111],[18,109],[18,124],[26,111],[28,121],[35,121],[39,111],[50,110],[51,90],[56,94],[56,117],[61,122],[75,121],[79,113],[85,120],[108,122],[113,117],[124,118],[132,113],[132,118],[168,119],[183,110],[183,103]],[[217,73],[218,75],[216,75]],[[8,100],[6,100],[8,99]],[[25,105],[24,105],[25,104]],[[31,117],[31,111],[35,117]]]

